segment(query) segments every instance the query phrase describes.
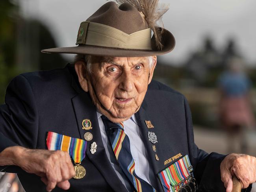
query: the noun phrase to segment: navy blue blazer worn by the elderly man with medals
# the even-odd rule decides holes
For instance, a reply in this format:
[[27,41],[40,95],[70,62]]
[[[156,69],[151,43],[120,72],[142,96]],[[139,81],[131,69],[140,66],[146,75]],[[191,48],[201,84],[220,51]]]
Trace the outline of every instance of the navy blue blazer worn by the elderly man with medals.
[[[5,103],[0,105],[0,151],[15,145],[47,149],[48,131],[83,138],[85,130],[81,128],[82,120],[87,118],[93,126],[89,130],[93,140],[88,142],[86,157],[82,161],[86,175],[83,179],[70,179],[69,191],[126,191],[108,161],[95,105],[89,94],[81,89],[74,66],[68,64],[63,69],[17,76],[7,88]],[[166,160],[178,153],[189,155],[200,191],[225,191],[219,168],[224,155],[208,154],[198,149],[194,143],[189,105],[182,94],[152,81],[135,118],[141,129],[150,168],[155,175],[152,185],[157,191],[163,191],[157,174],[170,166],[171,163]],[[150,120],[154,125],[152,131],[158,137],[156,152],[148,140],[149,130],[145,120]],[[95,154],[89,151],[92,142],[98,145]],[[156,161],[155,153],[159,161]],[[3,166],[0,171],[17,172],[28,192],[45,191],[40,177],[34,174],[28,174],[15,166]],[[53,191],[63,190],[56,188]]]

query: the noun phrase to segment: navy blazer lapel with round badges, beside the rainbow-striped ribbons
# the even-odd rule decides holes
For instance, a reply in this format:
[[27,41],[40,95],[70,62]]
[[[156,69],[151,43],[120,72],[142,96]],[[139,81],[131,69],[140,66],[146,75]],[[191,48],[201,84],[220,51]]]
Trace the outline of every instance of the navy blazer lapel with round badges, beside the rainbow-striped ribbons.
[[[86,155],[93,162],[93,164],[98,168],[103,177],[106,179],[108,184],[115,191],[125,191],[126,188],[122,184],[121,180],[117,177],[115,170],[112,168],[104,145],[102,143],[102,137],[100,134],[100,128],[98,126],[98,118],[96,114],[96,107],[93,105],[91,97],[86,92],[80,92],[77,96],[72,98],[72,103],[74,107],[74,112],[76,115],[76,121],[78,130],[80,133],[80,138],[83,138],[84,133],[90,132],[93,134],[93,139],[87,142]],[[83,119],[91,120],[92,129],[83,130],[82,121]],[[96,153],[92,154],[90,152],[90,146],[92,142],[96,142],[97,149]]]

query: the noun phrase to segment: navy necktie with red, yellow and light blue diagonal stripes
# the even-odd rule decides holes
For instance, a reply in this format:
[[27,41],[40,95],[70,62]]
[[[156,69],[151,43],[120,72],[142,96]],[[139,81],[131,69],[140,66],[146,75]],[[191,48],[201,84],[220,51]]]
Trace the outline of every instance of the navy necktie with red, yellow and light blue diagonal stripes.
[[130,140],[124,133],[123,123],[113,123],[106,116],[101,116],[106,134],[115,157],[129,181],[137,192],[155,192],[156,190],[135,174],[135,162],[130,150]]

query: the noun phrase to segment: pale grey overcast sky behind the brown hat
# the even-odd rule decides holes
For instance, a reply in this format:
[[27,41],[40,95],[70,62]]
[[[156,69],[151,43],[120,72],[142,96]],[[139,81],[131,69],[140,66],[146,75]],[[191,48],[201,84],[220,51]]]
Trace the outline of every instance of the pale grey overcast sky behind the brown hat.
[[[38,18],[50,28],[58,46],[74,46],[80,23],[106,0],[20,0],[22,14]],[[222,49],[226,39],[236,38],[239,50],[249,63],[256,65],[255,0],[160,0],[169,3],[163,17],[167,30],[176,39],[166,61],[182,63],[188,53],[202,47],[210,34],[215,46]]]

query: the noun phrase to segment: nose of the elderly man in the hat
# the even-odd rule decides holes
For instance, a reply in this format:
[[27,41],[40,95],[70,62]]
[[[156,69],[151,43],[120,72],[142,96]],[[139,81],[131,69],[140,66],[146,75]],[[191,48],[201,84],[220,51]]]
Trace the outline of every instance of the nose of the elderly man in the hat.
[[118,88],[126,92],[131,92],[134,87],[134,80],[135,80],[131,72],[123,71],[120,78],[121,78],[121,82]]

